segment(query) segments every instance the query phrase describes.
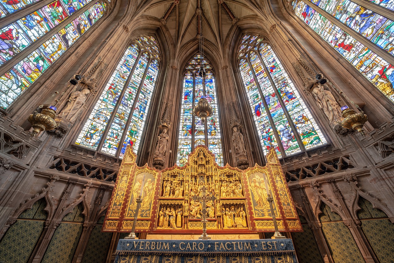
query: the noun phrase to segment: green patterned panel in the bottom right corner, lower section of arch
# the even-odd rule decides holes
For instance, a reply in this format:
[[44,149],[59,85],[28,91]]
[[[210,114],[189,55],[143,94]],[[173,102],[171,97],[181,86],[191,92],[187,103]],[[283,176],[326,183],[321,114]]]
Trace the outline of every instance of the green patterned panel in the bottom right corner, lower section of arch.
[[394,224],[388,219],[361,221],[364,231],[374,252],[381,263],[394,260]]

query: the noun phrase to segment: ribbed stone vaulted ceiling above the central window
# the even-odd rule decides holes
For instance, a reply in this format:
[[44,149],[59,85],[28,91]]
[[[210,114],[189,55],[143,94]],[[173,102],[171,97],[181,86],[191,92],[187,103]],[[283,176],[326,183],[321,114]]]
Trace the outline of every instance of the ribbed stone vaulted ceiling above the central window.
[[[201,11],[199,9],[201,8]],[[199,32],[198,13],[201,13],[201,34],[204,41],[221,47],[230,28],[240,19],[255,15],[255,11],[236,0],[164,0],[152,1],[143,15],[156,17],[167,26],[173,43],[179,50]]]

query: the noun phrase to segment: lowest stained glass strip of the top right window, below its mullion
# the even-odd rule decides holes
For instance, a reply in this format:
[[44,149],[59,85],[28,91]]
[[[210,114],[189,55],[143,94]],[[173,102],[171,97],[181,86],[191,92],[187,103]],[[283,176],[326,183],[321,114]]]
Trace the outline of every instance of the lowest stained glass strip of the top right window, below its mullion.
[[294,13],[394,102],[394,65],[369,50],[304,2],[296,4]]

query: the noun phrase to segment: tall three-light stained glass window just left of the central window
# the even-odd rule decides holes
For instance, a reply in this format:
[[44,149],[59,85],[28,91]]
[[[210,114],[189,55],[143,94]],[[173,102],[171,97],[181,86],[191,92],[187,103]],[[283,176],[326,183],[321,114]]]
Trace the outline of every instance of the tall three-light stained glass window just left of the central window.
[[75,143],[121,158],[127,145],[132,145],[138,153],[159,66],[160,53],[154,37],[136,38],[117,65]]

